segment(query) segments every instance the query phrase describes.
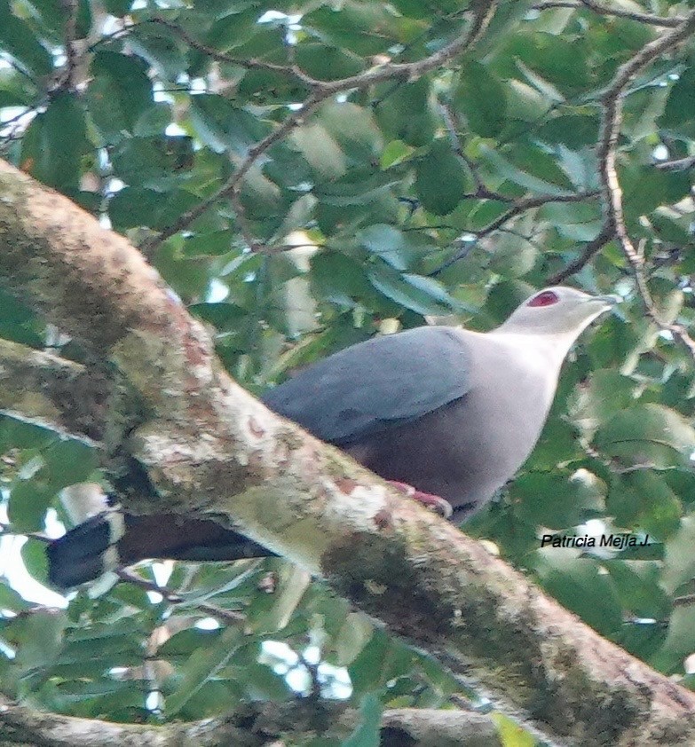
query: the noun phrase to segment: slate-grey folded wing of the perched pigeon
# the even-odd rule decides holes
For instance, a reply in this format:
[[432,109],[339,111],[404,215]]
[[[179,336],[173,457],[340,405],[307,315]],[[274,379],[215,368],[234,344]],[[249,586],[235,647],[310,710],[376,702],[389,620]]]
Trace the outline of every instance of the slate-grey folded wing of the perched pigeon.
[[469,368],[454,328],[421,326],[340,350],[262,399],[322,441],[351,444],[463,397]]

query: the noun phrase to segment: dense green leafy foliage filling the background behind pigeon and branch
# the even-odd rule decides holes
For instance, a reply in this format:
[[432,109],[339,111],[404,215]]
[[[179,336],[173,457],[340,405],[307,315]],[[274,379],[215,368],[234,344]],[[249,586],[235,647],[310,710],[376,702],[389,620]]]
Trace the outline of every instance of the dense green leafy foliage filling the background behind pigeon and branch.
[[[689,683],[695,48],[610,91],[692,3],[502,2],[468,51],[450,45],[480,3],[68,5],[0,0],[2,153],[138,242],[252,391],[425,319],[491,328],[558,280],[624,296],[565,366],[531,460],[466,531]],[[438,54],[431,70],[387,64]],[[606,183],[617,98],[621,195]],[[6,295],[0,335],[80,358]],[[9,416],[0,452],[4,553],[29,536],[43,580],[36,533],[67,523],[59,491],[107,476],[83,444]],[[540,548],[604,529],[650,544]],[[28,601],[9,565],[2,688],[52,711],[156,722],[292,688],[390,707],[462,692],[279,560],[144,564],[64,609]]]

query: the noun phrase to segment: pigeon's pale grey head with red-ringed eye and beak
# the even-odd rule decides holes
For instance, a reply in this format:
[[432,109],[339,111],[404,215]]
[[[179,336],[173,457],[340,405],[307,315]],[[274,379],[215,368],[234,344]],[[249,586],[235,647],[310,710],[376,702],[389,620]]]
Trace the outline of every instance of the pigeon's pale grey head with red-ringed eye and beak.
[[617,295],[588,295],[564,286],[543,288],[498,329],[506,334],[554,334],[573,342],[597,316],[619,302]]

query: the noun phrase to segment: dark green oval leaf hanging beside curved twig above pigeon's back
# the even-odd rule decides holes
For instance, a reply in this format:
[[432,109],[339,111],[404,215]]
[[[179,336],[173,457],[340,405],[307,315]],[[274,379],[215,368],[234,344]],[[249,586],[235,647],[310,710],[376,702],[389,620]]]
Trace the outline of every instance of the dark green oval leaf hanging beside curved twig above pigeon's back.
[[435,140],[418,162],[415,193],[435,216],[446,216],[472,187],[470,170],[446,139]]

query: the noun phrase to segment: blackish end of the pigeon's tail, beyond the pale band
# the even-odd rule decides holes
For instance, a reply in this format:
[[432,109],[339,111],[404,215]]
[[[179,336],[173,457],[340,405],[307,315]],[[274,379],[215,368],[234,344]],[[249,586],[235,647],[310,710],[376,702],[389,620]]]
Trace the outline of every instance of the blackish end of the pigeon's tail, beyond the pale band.
[[[51,586],[68,589],[91,581],[118,564],[115,512],[92,516],[46,548]],[[111,549],[110,553],[107,551]]]

